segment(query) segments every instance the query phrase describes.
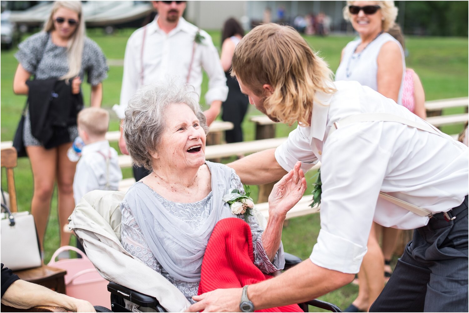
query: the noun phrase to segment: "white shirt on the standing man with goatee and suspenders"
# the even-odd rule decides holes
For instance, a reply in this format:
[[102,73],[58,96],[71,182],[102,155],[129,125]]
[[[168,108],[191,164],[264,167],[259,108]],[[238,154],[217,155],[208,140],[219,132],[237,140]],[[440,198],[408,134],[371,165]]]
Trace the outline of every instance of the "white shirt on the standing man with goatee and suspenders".
[[[121,103],[113,108],[117,115],[124,118],[127,104],[140,86],[164,80],[168,74],[178,76],[182,81],[191,84],[200,95],[202,68],[209,77],[208,91],[205,94],[206,103],[210,105],[216,100],[225,101],[228,95],[227,79],[221,67],[218,51],[212,43],[212,37],[204,30],[200,30],[200,35],[204,36],[204,39],[202,43],[195,45],[194,59],[187,81],[198,28],[181,17],[176,28],[166,34],[159,28],[157,20],[158,16],[145,27],[137,29],[127,42]],[[143,51],[142,44],[144,44]]]

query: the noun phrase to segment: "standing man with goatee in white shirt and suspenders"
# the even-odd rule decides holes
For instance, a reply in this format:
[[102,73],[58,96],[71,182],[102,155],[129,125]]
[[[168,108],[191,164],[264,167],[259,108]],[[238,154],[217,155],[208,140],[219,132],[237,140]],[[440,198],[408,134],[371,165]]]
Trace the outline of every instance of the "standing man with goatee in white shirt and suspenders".
[[[152,1],[152,4],[158,15],[150,24],[137,29],[127,41],[120,105],[113,109],[123,119],[129,99],[137,89],[164,80],[168,74],[179,76],[194,86],[200,95],[203,68],[209,77],[205,102],[210,109],[204,114],[210,125],[219,115],[221,103],[228,94],[226,77],[212,38],[182,17],[186,1]],[[119,148],[122,153],[129,154],[122,128]],[[151,173],[144,167],[134,166],[133,171],[137,182]]]

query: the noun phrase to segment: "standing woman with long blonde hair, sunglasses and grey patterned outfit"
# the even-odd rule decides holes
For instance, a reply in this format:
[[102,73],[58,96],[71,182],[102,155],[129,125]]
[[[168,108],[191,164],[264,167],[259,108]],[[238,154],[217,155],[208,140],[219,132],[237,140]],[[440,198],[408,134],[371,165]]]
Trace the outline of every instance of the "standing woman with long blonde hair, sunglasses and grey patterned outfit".
[[[103,96],[101,82],[107,77],[108,67],[99,46],[85,35],[85,23],[80,1],[54,2],[43,31],[30,36],[19,44],[18,48],[19,51],[15,57],[18,59],[19,65],[13,81],[15,94],[29,95],[31,103],[34,95],[30,94],[30,78],[34,76],[32,82],[36,84],[39,80],[65,80],[65,84],[70,86],[71,94],[79,95],[81,94],[80,84],[84,74],[87,73],[88,82],[91,85],[91,106],[101,106]],[[64,106],[72,106],[65,98],[63,101]],[[83,100],[81,106],[83,106]],[[69,110],[73,111],[74,108]],[[59,144],[48,148],[45,148],[32,135],[34,127],[31,127],[31,124],[38,124],[39,117],[30,115],[30,110],[28,110],[25,118],[23,141],[31,161],[34,177],[31,213],[36,221],[42,249],[44,249],[45,228],[55,181],[57,181],[59,198],[60,245],[69,244],[70,233],[65,233],[63,226],[68,224],[67,218],[75,207],[72,185],[76,162],[68,160],[67,150],[78,136],[77,113],[75,112],[75,116],[67,116],[69,119],[67,126],[54,128],[53,135],[57,135],[57,138],[61,136],[61,139],[60,141],[56,140]],[[47,112],[47,116],[56,116],[57,114],[59,112],[52,110]],[[65,139],[64,136],[66,136]]]

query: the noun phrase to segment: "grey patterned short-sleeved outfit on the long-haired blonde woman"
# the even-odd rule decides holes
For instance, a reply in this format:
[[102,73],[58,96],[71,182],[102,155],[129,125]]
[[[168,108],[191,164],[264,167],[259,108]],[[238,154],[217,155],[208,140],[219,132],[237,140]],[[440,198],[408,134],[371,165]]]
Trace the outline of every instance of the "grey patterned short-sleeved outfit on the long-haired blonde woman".
[[[55,45],[52,37],[44,31],[30,36],[18,48],[15,58],[35,79],[59,78],[68,72],[67,48]],[[80,79],[84,81],[86,73],[88,83],[96,86],[107,77],[108,69],[101,48],[90,38],[85,38]],[[70,141],[78,136],[76,126],[69,127],[68,132]],[[29,110],[24,121],[23,140],[25,146],[41,146],[38,139],[31,134]]]

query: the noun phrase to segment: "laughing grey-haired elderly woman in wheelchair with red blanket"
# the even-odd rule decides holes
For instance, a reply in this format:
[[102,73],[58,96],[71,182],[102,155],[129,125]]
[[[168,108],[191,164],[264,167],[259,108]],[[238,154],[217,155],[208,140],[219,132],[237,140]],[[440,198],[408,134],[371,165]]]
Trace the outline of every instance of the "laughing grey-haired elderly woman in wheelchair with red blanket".
[[[286,213],[306,189],[299,164],[272,190],[268,223],[256,210],[232,212],[224,196],[243,186],[233,169],[205,160],[208,127],[192,90],[170,80],[134,95],[124,137],[134,163],[153,172],[127,193],[91,191],[69,218],[110,281],[114,312],[181,312],[197,293],[253,284],[301,262],[280,241]],[[301,304],[305,312],[308,304],[340,312],[320,300]],[[302,312],[296,305],[271,311]]]

